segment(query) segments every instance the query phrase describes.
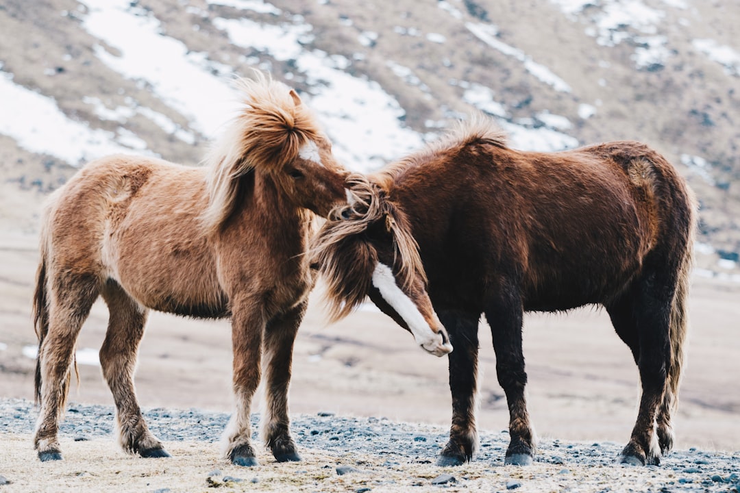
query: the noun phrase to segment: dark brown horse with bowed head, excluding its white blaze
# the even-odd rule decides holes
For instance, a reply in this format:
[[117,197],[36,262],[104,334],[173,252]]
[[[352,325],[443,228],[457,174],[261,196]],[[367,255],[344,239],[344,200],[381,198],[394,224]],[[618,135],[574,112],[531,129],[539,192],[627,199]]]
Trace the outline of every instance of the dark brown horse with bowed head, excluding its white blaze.
[[[490,121],[474,118],[429,149],[366,178],[314,245],[335,311],[368,294],[403,316],[374,283],[379,259],[400,284],[427,291],[454,351],[450,439],[441,465],[470,460],[475,426],[478,321],[491,326],[510,413],[505,463],[531,463],[522,315],[603,305],[630,347],[642,382],[626,463],[657,464],[673,445],[684,361],[695,205],[666,160],[635,142],[566,152],[519,152]],[[418,242],[421,263],[397,248]],[[358,288],[359,287],[359,288]],[[417,288],[418,289],[418,288]],[[359,291],[358,291],[359,290]]]

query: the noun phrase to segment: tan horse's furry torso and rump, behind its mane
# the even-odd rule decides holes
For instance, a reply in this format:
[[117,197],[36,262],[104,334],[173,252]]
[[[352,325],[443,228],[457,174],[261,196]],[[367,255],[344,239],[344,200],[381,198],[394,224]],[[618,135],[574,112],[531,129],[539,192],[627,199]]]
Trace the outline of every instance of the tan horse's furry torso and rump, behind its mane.
[[207,200],[203,169],[127,155],[92,161],[47,204],[52,268],[115,282],[157,310],[223,316],[199,221]]

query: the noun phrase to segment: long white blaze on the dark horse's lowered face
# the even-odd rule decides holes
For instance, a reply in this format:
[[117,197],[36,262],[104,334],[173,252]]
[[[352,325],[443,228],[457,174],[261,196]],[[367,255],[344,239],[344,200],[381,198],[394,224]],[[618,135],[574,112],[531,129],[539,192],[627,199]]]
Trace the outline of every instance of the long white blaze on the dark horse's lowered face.
[[372,273],[372,284],[380,291],[380,296],[383,296],[386,303],[391,305],[406,322],[417,344],[430,352],[434,352],[437,347],[442,345],[442,336],[431,330],[411,298],[406,296],[406,293],[398,287],[393,271],[388,265],[377,263]]

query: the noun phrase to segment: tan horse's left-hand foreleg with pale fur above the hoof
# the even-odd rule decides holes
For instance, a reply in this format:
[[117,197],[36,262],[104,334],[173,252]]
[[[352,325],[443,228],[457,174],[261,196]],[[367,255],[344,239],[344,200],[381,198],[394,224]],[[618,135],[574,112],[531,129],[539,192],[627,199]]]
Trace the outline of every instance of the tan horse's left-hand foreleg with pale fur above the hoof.
[[260,384],[260,357],[266,317],[263,306],[258,302],[232,303],[236,409],[223,435],[224,455],[238,466],[257,466],[250,419],[252,397]]

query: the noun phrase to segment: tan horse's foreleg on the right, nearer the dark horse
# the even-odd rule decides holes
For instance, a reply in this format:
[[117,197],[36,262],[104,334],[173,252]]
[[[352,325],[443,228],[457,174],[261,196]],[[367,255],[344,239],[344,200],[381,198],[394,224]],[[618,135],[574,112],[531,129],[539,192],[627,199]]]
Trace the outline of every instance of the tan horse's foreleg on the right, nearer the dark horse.
[[263,367],[266,386],[262,436],[277,462],[300,460],[295,441],[290,435],[288,387],[293,343],[304,313],[305,302],[289,313],[273,319],[265,328]]

